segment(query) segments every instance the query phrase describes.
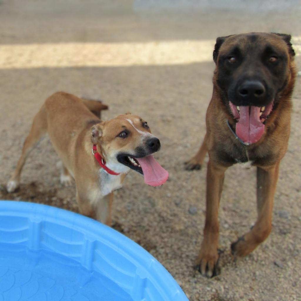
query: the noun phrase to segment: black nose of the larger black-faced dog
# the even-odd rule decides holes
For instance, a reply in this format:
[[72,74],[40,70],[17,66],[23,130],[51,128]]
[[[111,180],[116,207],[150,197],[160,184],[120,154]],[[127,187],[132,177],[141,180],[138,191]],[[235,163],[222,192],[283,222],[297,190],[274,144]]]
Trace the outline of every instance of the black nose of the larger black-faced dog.
[[255,104],[265,98],[265,87],[259,81],[245,80],[237,88],[237,96],[241,101],[250,101]]

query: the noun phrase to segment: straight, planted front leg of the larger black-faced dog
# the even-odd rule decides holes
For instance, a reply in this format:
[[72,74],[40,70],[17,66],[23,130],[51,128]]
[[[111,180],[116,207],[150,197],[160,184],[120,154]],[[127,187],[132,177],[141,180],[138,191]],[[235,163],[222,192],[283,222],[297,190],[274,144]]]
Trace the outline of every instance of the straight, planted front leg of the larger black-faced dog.
[[209,160],[207,166],[206,221],[204,238],[196,261],[196,268],[208,278],[218,273],[219,201],[226,167]]

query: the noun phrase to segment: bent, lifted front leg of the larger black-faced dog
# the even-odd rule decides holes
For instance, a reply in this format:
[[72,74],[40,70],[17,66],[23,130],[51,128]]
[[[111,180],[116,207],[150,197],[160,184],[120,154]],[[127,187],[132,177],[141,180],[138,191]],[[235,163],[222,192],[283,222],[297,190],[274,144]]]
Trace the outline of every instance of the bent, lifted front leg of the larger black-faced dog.
[[257,211],[258,218],[248,233],[231,244],[234,255],[246,256],[262,243],[272,229],[273,198],[278,180],[279,164],[270,168],[257,167]]

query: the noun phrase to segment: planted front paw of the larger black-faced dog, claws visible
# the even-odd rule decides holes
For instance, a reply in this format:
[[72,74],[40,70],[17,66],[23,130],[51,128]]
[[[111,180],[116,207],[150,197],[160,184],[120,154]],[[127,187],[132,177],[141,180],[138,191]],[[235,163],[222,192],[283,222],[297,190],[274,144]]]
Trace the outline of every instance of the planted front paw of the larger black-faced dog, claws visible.
[[215,252],[207,253],[200,251],[200,254],[195,262],[194,268],[203,276],[211,278],[220,274],[221,269],[218,265],[219,254]]

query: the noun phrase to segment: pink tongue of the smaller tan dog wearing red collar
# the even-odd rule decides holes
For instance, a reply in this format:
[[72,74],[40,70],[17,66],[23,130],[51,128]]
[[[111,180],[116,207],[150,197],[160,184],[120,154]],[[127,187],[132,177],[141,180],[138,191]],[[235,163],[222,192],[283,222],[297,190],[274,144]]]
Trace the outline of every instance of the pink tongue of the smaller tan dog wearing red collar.
[[168,179],[168,171],[166,171],[153,156],[143,158],[135,158],[143,171],[144,183],[151,186],[159,186],[164,184]]

